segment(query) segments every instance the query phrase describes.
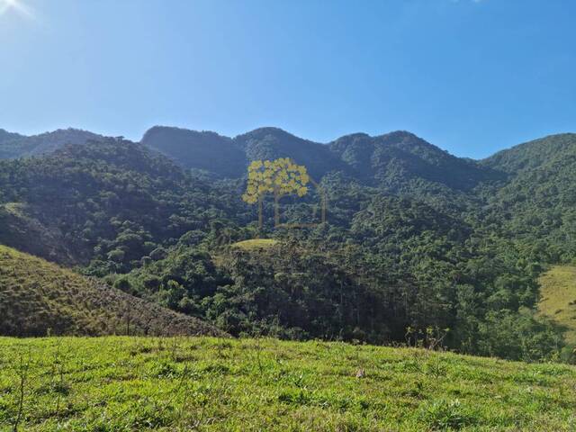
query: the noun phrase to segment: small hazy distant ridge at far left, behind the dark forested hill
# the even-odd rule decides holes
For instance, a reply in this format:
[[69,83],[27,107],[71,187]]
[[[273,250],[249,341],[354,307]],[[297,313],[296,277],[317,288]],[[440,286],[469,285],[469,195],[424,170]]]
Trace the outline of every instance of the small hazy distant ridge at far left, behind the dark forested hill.
[[47,154],[66,144],[100,139],[102,135],[78,129],[58,129],[29,137],[0,130],[0,159]]

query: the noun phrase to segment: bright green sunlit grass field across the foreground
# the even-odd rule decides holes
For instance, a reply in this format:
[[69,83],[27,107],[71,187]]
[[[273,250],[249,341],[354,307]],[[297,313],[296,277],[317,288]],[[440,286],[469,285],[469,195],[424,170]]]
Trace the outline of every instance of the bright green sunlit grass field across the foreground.
[[22,377],[20,430],[576,430],[571,366],[409,348],[0,338],[0,430]]

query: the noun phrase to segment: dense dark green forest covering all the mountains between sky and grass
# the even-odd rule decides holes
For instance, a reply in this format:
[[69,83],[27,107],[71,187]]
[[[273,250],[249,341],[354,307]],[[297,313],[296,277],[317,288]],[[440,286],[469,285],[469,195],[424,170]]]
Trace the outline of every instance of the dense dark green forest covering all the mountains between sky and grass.
[[[546,267],[576,262],[576,135],[473,161],[409,132],[328,144],[274,128],[157,127],[141,143],[76,132],[42,151],[0,134],[0,244],[235,336],[574,360],[535,306]],[[278,157],[307,166],[326,223],[275,229],[270,199],[258,228],[240,198],[246,167]],[[306,220],[318,202],[286,198],[283,217]],[[251,238],[278,241],[236,246]]]

